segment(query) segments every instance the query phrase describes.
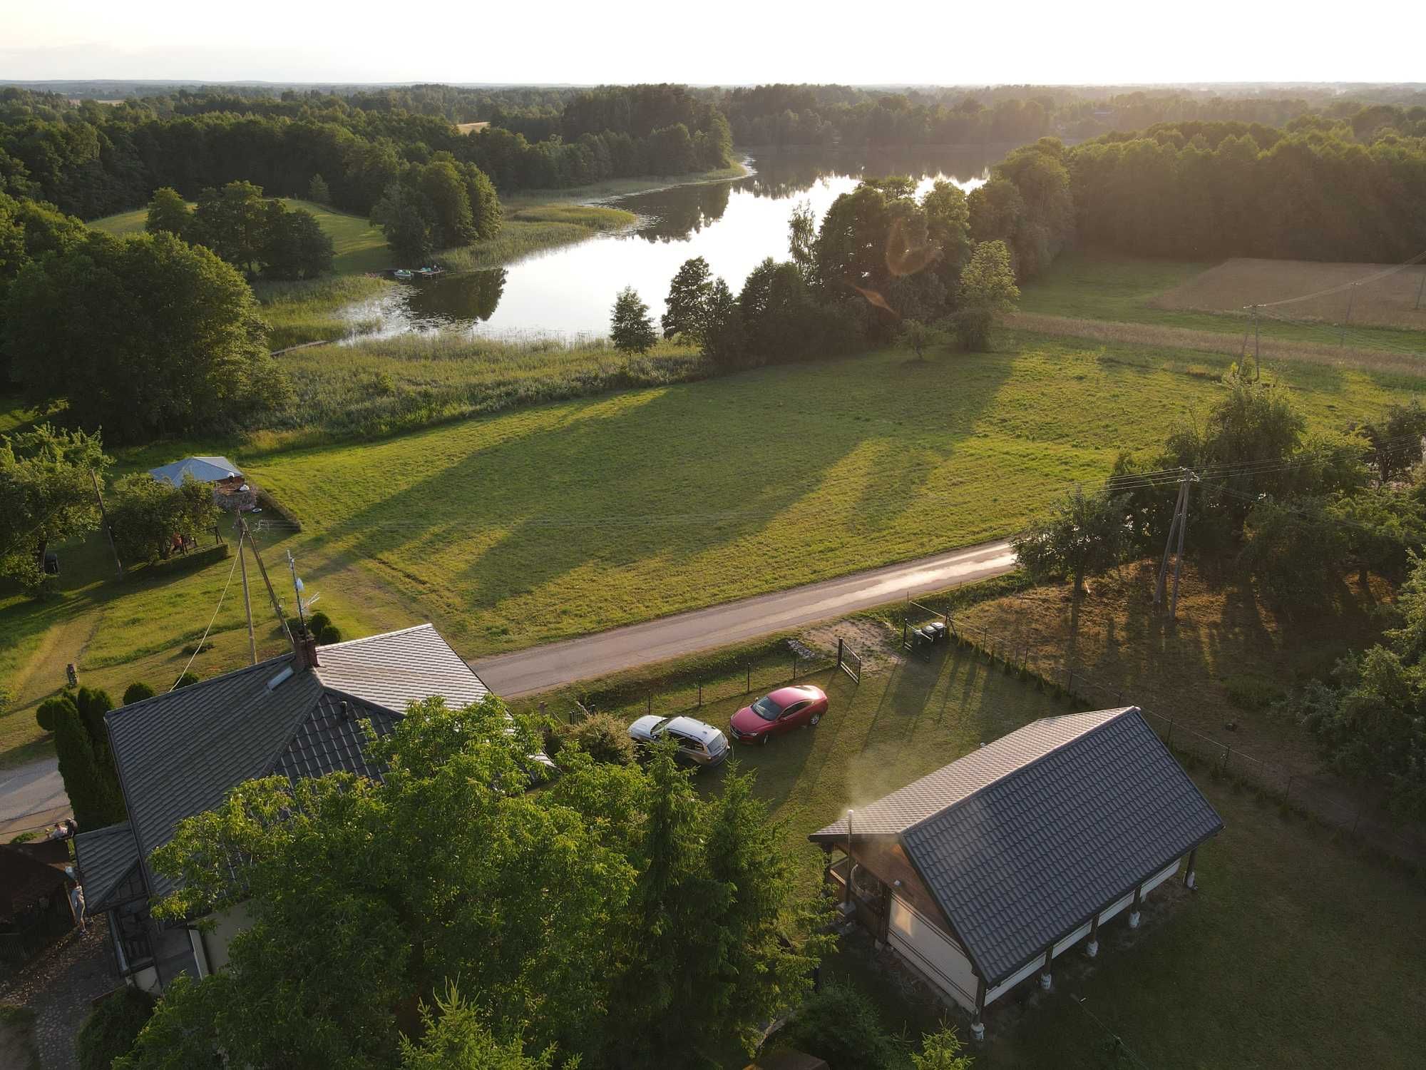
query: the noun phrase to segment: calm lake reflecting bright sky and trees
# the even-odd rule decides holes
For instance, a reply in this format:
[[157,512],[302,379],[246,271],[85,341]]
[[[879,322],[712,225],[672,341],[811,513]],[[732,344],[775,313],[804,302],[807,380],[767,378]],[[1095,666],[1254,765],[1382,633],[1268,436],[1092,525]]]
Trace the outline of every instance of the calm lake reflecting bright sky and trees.
[[632,285],[657,324],[679,265],[707,260],[736,294],[764,257],[787,257],[787,221],[807,201],[819,220],[863,175],[903,174],[918,191],[937,178],[973,190],[1008,146],[877,154],[759,154],[752,174],[727,183],[676,185],[607,201],[637,223],[576,245],[536,253],[491,271],[462,271],[402,284],[347,310],[354,324],[375,321],[352,341],[408,332],[463,331],[495,337],[578,341],[609,331],[615,294]]

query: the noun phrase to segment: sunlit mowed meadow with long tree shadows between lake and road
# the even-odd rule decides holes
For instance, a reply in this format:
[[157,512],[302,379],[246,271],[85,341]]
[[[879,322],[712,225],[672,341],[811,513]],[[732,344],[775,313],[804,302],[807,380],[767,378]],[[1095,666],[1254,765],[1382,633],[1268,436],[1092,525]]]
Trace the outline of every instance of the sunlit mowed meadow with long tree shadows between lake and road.
[[[1017,531],[1222,391],[1228,357],[1021,338],[636,389],[398,439],[234,458],[468,656]],[[1426,379],[1283,371],[1310,421]]]

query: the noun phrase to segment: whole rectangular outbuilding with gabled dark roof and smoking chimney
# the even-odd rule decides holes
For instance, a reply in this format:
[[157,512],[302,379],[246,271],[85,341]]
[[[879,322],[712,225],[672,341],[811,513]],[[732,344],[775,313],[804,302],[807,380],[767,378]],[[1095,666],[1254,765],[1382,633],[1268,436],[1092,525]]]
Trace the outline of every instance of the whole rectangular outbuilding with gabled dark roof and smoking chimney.
[[1044,718],[810,839],[843,913],[971,1014],[1128,912],[1222,819],[1135,706]]

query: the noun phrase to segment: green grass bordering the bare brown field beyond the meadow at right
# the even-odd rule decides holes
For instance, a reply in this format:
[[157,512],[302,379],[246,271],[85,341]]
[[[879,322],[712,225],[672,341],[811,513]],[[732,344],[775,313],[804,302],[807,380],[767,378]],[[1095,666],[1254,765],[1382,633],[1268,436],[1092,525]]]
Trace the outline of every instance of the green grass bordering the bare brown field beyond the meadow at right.
[[[1299,261],[1282,261],[1285,274],[1296,277],[1305,265]],[[1214,270],[1211,263],[1176,260],[1152,260],[1129,257],[1119,253],[1094,250],[1070,250],[1055,258],[1044,275],[1021,288],[1020,311],[1032,315],[1057,315],[1077,320],[1109,320],[1121,324],[1152,324],[1192,331],[1215,331],[1235,334],[1242,338],[1248,317],[1241,311],[1192,311],[1161,308],[1154,298],[1176,287],[1182,287],[1201,272]],[[1309,292],[1318,288],[1303,275],[1301,288],[1289,292]],[[1253,297],[1243,290],[1242,304]],[[1258,300],[1262,300],[1261,297]],[[1232,304],[1228,298],[1224,302]],[[1276,310],[1289,318],[1299,320],[1306,312],[1292,305]],[[1336,345],[1336,330],[1318,325],[1291,325],[1268,317],[1261,320],[1263,338],[1291,340]],[[1380,347],[1383,350],[1426,351],[1426,331],[1397,330],[1389,327],[1353,325],[1348,340],[1359,348]]]

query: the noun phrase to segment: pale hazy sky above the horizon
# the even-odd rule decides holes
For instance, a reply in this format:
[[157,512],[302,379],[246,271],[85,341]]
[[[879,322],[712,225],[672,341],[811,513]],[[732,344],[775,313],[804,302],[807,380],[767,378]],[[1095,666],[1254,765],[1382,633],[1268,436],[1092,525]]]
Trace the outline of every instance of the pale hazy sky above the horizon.
[[[1420,3],[0,0],[0,78],[1117,84],[1426,80]],[[1326,13],[1323,13],[1326,16]]]

